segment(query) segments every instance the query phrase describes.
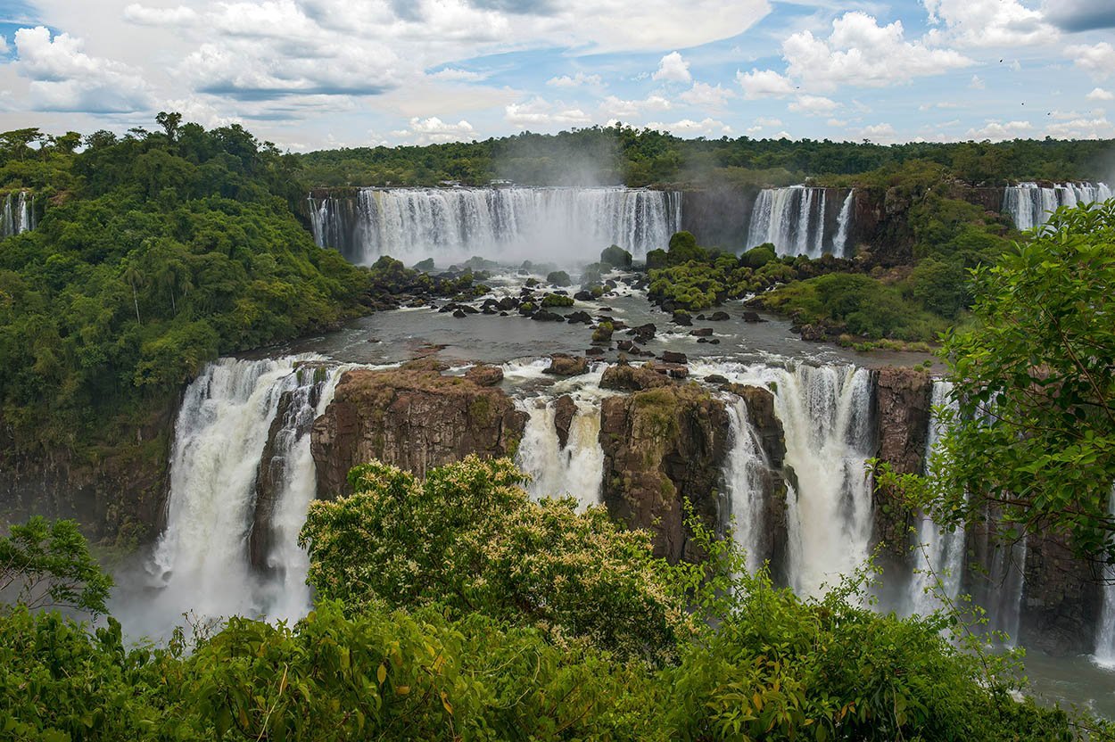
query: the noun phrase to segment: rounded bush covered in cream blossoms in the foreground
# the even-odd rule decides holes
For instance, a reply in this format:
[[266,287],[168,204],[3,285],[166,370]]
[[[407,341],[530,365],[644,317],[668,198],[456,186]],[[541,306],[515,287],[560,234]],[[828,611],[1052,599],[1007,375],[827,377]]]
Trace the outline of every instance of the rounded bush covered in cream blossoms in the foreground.
[[532,501],[506,459],[469,457],[425,480],[376,462],[349,481],[355,494],[314,502],[302,530],[322,597],[481,612],[656,661],[690,631],[647,534],[572,499]]

